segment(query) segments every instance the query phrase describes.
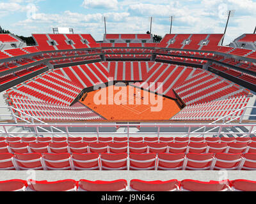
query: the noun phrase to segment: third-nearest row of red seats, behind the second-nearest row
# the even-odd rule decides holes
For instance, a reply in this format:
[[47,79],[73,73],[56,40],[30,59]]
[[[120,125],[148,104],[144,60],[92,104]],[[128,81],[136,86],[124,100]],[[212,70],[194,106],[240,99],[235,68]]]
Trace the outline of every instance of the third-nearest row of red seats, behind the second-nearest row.
[[0,142],[0,153],[229,153],[229,154],[245,154],[256,153],[256,143],[116,143],[116,142]]

